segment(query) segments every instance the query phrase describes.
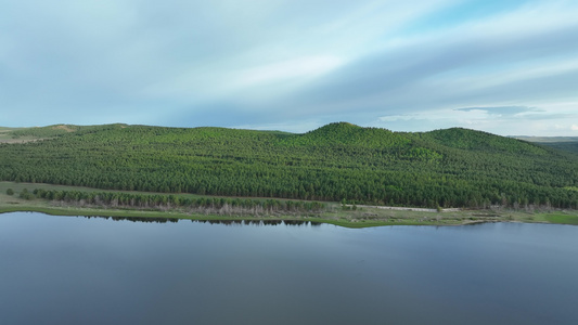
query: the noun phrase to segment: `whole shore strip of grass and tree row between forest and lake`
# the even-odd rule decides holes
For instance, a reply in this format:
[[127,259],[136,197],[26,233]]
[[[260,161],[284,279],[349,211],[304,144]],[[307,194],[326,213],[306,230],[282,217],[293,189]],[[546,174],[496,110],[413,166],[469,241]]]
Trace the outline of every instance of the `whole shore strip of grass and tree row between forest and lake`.
[[[16,188],[16,196],[3,194],[7,187]],[[28,191],[29,186],[36,186]],[[30,187],[31,188],[31,187]],[[139,192],[101,191],[63,185],[0,182],[0,213],[37,211],[55,216],[112,217],[115,220],[145,220],[166,222],[176,219],[239,222],[240,220],[277,222],[319,222],[346,227],[381,225],[455,225],[477,222],[547,222],[570,223],[578,220],[578,211],[540,211],[492,209],[441,211],[431,209],[393,210],[382,207],[343,204],[292,202],[283,199],[247,199],[210,197],[189,194],[151,194]],[[28,193],[23,198],[23,193]],[[43,198],[42,198],[43,197]],[[92,198],[92,199],[91,199]],[[178,198],[178,204],[175,199]],[[237,204],[234,204],[236,202]],[[277,203],[273,203],[277,202]],[[229,205],[227,207],[226,205]],[[235,205],[236,207],[233,207]],[[277,205],[277,208],[273,208]],[[243,207],[244,206],[244,207]],[[267,207],[267,208],[266,208]],[[287,207],[291,207],[287,209]],[[307,208],[309,207],[309,208]],[[313,208],[314,207],[314,208]],[[565,219],[561,219],[562,216]]]

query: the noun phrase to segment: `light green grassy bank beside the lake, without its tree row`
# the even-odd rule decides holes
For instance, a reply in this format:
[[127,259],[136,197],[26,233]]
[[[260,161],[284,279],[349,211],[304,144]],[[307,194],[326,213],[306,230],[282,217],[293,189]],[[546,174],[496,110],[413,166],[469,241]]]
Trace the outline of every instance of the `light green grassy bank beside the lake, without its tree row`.
[[[8,195],[11,188],[14,194]],[[82,207],[47,199],[21,198],[20,194],[35,188],[57,191],[103,192],[102,190],[50,184],[0,182],[0,213],[14,211],[36,211],[54,216],[94,216],[123,218],[176,218],[189,220],[300,220],[335,224],[346,227],[369,227],[382,225],[459,225],[478,222],[540,222],[578,224],[578,211],[513,211],[513,210],[463,210],[446,212],[397,211],[363,207],[343,209],[337,203],[329,203],[320,213],[268,216],[223,216],[215,213],[191,213],[185,209],[134,209],[111,207]],[[107,191],[119,192],[119,191]],[[127,192],[138,193],[138,192]],[[147,193],[150,194],[150,193]],[[181,197],[201,197],[179,194]]]

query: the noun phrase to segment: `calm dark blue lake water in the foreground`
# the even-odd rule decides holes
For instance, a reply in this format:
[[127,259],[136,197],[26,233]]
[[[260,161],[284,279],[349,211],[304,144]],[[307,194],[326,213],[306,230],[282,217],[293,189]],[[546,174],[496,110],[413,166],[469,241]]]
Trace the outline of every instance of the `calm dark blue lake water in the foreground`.
[[0,324],[578,324],[578,226],[0,214]]

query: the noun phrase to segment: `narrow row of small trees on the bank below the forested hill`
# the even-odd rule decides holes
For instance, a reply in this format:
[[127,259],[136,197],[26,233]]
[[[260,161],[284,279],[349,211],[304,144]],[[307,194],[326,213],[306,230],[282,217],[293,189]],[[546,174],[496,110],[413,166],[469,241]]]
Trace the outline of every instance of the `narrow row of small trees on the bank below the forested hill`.
[[112,208],[138,208],[169,210],[181,209],[195,213],[207,214],[301,214],[319,213],[325,204],[319,202],[252,199],[230,197],[180,197],[178,195],[137,194],[116,192],[82,192],[34,190],[38,198],[79,206],[97,206]]

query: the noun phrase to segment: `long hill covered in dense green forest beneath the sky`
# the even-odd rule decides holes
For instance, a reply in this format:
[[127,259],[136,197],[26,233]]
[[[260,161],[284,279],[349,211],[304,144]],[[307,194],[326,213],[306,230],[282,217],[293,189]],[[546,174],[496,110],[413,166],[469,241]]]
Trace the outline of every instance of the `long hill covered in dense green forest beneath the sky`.
[[[12,132],[12,133],[11,133]],[[51,126],[4,131],[0,180],[427,207],[578,208],[578,156],[486,132]],[[28,139],[27,138],[27,139]]]

